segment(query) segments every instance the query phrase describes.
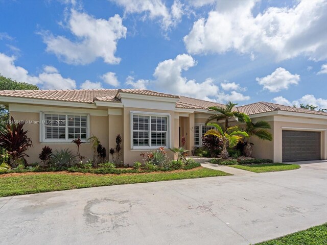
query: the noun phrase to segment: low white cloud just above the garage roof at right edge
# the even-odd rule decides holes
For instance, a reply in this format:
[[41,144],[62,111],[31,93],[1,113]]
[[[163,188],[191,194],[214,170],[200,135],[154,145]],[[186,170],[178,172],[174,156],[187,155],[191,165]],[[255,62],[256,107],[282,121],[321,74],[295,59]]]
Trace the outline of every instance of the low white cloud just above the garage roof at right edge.
[[302,96],[300,99],[294,100],[292,102],[290,102],[289,100],[285,99],[282,96],[275,97],[273,101],[277,104],[282,104],[286,106],[292,106],[292,105],[299,106],[300,104],[303,104],[303,105],[317,106],[318,109],[319,108],[327,109],[327,100],[322,98],[316,98],[313,94],[306,94]]

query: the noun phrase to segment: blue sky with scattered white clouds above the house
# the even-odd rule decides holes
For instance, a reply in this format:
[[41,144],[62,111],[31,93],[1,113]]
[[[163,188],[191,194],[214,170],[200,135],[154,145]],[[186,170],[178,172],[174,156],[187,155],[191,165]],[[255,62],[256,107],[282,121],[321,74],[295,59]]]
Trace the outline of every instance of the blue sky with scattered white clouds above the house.
[[1,1],[0,73],[327,108],[326,1]]

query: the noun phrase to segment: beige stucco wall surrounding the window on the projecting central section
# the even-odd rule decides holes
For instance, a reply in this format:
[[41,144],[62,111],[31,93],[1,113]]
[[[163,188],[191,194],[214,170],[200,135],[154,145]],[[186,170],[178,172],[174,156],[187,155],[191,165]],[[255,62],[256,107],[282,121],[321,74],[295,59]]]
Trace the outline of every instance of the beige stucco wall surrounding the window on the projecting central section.
[[[124,107],[123,117],[124,117],[124,164],[125,165],[132,165],[135,161],[142,161],[142,157],[140,156],[141,153],[147,153],[150,151],[154,151],[155,149],[144,149],[144,150],[132,150],[131,149],[131,117],[130,112],[137,111],[137,112],[152,112],[152,113],[167,113],[170,115],[170,142],[171,147],[178,147],[178,140],[179,135],[178,131],[175,132],[178,128],[175,127],[175,112],[174,111],[167,111],[167,110],[154,110],[154,109],[141,109],[141,108],[132,108],[132,107]],[[168,157],[173,159],[175,156],[171,151],[168,152]]]

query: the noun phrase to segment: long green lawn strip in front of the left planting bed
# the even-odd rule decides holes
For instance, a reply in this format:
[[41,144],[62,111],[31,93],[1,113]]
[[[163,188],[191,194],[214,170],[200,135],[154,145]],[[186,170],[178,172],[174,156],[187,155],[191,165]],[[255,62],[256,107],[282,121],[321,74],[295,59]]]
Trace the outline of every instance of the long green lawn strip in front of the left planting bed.
[[134,175],[69,175],[37,174],[0,177],[0,197],[32,194],[55,190],[68,190],[95,186],[121,185],[165,180],[194,179],[230,174],[209,168],[195,168],[172,173],[149,173]]

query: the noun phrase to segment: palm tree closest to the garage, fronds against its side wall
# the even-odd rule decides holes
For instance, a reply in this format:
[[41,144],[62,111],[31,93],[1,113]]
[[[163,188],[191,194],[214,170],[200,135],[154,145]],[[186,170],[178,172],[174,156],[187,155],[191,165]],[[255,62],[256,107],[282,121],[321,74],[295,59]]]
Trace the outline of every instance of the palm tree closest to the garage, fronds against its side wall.
[[244,146],[243,153],[246,157],[251,157],[252,156],[252,145],[250,143],[250,137],[251,136],[256,136],[259,139],[263,140],[272,140],[272,134],[268,131],[268,129],[271,129],[269,123],[267,121],[257,121],[255,124],[251,121],[250,117],[246,115],[244,117],[244,121],[246,124],[246,128],[244,129],[244,132],[248,134],[245,138],[247,139],[247,142]]

